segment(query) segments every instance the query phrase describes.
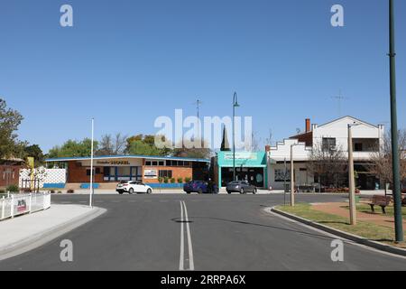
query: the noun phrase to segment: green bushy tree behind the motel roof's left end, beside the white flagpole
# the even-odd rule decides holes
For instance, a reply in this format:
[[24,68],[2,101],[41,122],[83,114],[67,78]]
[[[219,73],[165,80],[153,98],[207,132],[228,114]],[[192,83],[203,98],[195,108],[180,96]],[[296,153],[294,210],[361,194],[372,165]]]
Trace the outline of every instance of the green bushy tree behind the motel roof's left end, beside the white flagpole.
[[[51,148],[48,157],[87,157],[91,154],[91,144],[92,141],[89,138],[85,138],[81,142],[69,139],[65,144]],[[94,141],[93,144],[94,151],[96,152],[98,143]]]

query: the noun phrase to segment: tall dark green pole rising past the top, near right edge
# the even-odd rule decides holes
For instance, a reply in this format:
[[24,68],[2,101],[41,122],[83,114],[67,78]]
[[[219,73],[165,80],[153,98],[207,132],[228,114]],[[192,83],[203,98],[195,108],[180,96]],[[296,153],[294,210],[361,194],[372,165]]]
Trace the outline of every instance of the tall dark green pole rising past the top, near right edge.
[[403,242],[403,227],[401,216],[401,170],[399,163],[398,144],[398,116],[396,106],[396,52],[395,52],[395,23],[394,4],[389,0],[389,59],[390,59],[390,81],[391,81],[391,129],[392,129],[392,174],[393,174],[393,204],[396,242]]

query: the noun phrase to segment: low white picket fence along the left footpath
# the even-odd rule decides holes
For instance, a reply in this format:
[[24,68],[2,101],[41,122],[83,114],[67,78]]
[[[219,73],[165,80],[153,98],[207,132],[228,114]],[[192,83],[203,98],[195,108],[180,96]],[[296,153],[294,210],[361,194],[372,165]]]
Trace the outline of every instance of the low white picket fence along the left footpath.
[[0,220],[38,210],[47,210],[50,207],[51,193],[49,192],[10,195],[0,199]]

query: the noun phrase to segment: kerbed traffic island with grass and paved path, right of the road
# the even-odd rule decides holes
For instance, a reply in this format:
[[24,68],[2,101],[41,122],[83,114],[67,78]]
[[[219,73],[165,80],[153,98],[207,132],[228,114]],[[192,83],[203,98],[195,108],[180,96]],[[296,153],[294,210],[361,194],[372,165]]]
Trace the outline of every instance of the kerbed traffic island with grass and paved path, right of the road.
[[[396,243],[394,241],[393,223],[387,221],[390,216],[374,214],[373,218],[371,218],[371,216],[364,216],[367,213],[361,211],[358,212],[357,225],[351,226],[349,224],[348,203],[334,203],[334,206],[332,204],[300,203],[295,207],[276,206],[271,210],[281,216],[321,229],[340,238],[406,256],[406,243]],[[364,207],[357,210],[364,210]],[[404,220],[403,226],[406,226]]]

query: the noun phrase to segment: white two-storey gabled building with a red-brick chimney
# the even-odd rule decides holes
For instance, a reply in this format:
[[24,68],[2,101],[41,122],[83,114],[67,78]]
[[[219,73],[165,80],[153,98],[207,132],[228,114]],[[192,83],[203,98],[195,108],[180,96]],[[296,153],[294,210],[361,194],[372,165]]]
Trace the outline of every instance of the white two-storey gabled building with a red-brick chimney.
[[[379,150],[383,142],[384,126],[374,126],[355,117],[341,117],[325,125],[311,125],[306,119],[306,129],[300,135],[291,136],[275,146],[267,147],[268,182],[272,190],[283,190],[284,182],[290,182],[291,145],[295,183],[297,185],[315,185],[317,180],[307,170],[311,150],[320,145],[339,147],[347,155],[348,125],[352,126],[355,171],[357,183],[362,190],[374,190],[379,182],[374,175],[367,173],[367,164],[371,153]],[[285,162],[288,173],[285,178]]]

